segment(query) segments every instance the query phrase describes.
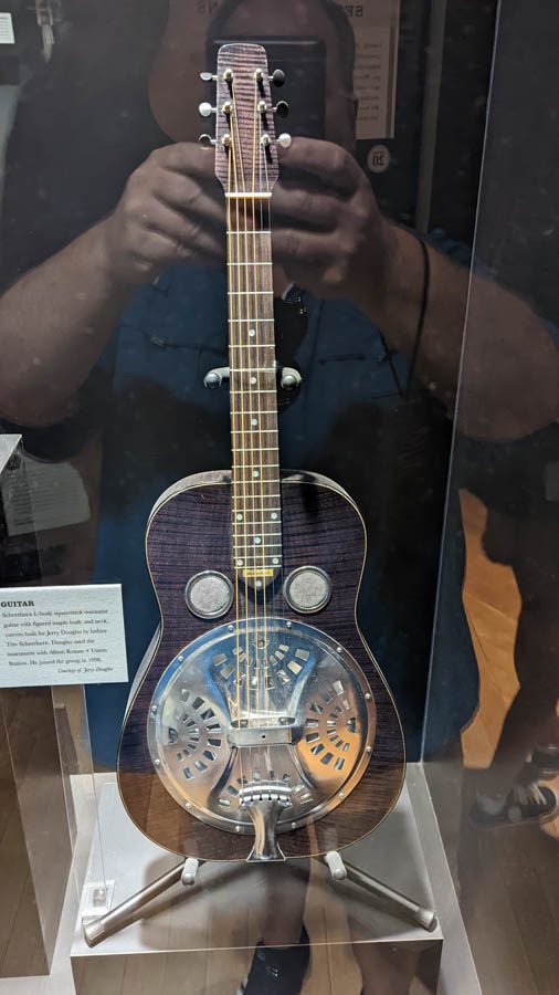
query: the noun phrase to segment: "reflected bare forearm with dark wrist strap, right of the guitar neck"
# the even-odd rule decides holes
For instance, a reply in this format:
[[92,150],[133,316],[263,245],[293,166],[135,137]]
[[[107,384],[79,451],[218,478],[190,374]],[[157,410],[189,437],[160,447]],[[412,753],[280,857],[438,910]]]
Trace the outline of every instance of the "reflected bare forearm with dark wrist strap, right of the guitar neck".
[[[411,356],[423,292],[418,240],[389,226],[390,265],[381,297],[359,305],[389,345]],[[514,439],[559,418],[559,352],[546,324],[510,291],[429,247],[430,289],[416,373],[453,412],[467,305],[458,423],[481,439]]]

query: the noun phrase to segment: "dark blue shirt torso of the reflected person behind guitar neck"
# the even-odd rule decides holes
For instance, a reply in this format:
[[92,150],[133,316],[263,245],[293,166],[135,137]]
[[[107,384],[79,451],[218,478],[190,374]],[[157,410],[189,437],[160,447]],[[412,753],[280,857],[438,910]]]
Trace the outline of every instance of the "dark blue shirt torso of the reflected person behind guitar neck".
[[[426,671],[449,426],[421,392],[402,399],[404,362],[387,352],[379,331],[351,304],[317,302],[293,289],[277,307],[280,338],[291,310],[299,317],[305,313],[289,356],[303,381],[280,409],[281,463],[329,475],[363,514],[369,557],[361,624],[413,742]],[[151,506],[176,480],[231,467],[228,384],[218,390],[203,384],[210,369],[228,365],[224,272],[165,271],[135,295],[112,345],[95,579],[123,584],[134,672],[158,621],[144,546]],[[95,739],[95,719],[93,726]]]

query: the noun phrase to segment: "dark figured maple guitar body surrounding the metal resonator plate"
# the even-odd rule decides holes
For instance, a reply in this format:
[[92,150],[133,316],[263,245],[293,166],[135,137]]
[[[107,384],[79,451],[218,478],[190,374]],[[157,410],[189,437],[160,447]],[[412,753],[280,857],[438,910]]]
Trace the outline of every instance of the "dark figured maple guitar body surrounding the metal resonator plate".
[[[283,631],[286,626],[289,627],[287,631],[294,632],[300,627],[310,641],[315,631],[318,636],[327,633],[334,646],[339,643],[338,652],[342,647],[346,658],[357,664],[362,675],[359,687],[370,689],[362,695],[368,699],[368,719],[363,720],[368,726],[368,746],[358,778],[338,793],[336,805],[325,809],[320,817],[302,817],[295,829],[280,826],[283,855],[303,857],[348,846],[370,832],[388,815],[402,787],[404,746],[394,703],[357,624],[367,543],[361,515],[341,488],[314,473],[282,475],[281,492],[283,574],[289,576],[310,564],[329,578],[330,597],[319,610],[297,612],[287,603],[283,585],[271,585],[266,624],[271,626],[271,620],[277,618],[282,620]],[[254,832],[251,826],[238,828],[233,823],[229,824],[229,831],[223,831],[218,824],[209,824],[189,813],[188,802],[179,804],[157,771],[160,761],[154,761],[154,746],[150,752],[148,726],[154,722],[151,710],[157,710],[157,704],[154,705],[154,701],[158,701],[157,689],[165,685],[171,662],[175,661],[176,671],[177,660],[188,659],[188,648],[197,640],[203,642],[218,627],[220,631],[226,631],[228,627],[232,630],[239,625],[238,600],[219,619],[203,619],[189,610],[184,597],[189,579],[208,570],[233,582],[231,519],[232,489],[228,472],[197,474],[180,481],[159,499],[152,511],[147,532],[147,558],[160,605],[161,626],[152,656],[146,661],[127,711],[118,760],[120,795],[138,828],[159,846],[202,860],[246,859]],[[254,609],[254,603],[249,601],[243,609],[246,615]],[[215,666],[221,666],[219,657],[213,660]],[[182,690],[187,698],[188,693],[188,688]],[[329,700],[328,694],[326,700]],[[324,703],[323,699],[323,706]],[[197,708],[200,714],[208,714],[208,710],[203,712],[204,705]],[[198,727],[196,735],[199,736]],[[329,733],[341,751],[341,740],[335,739],[336,735]],[[317,739],[315,733],[307,735],[307,740],[313,739]],[[172,747],[169,748],[172,753]],[[323,751],[323,757],[330,756],[324,754],[320,744],[316,750]],[[242,751],[233,748],[231,752]],[[196,751],[192,755],[197,756]],[[211,751],[204,755],[212,755]],[[204,763],[200,769],[205,769]],[[340,763],[342,761],[338,761]],[[192,771],[196,774],[194,767]],[[224,777],[222,774],[222,779]],[[189,784],[184,781],[186,798]]]

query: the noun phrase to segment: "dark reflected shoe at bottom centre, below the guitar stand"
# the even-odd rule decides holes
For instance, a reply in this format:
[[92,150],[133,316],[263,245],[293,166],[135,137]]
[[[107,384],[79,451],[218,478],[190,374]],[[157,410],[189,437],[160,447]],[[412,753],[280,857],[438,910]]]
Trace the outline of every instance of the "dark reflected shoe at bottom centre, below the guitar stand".
[[305,926],[295,946],[263,946],[259,941],[249,975],[236,995],[298,995],[310,961],[308,944]]

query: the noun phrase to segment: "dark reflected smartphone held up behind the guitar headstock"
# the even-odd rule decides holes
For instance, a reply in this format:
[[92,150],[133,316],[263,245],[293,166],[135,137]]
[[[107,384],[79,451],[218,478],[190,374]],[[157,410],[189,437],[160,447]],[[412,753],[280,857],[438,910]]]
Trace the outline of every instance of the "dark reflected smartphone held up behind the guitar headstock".
[[267,53],[268,69],[281,69],[285,73],[285,84],[272,87],[274,101],[286,101],[289,115],[276,119],[276,133],[305,135],[307,138],[325,137],[326,109],[326,46],[316,38],[277,38],[244,35],[214,39],[209,55],[211,65],[217,62],[218,50],[231,42],[253,42],[263,45]]

